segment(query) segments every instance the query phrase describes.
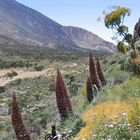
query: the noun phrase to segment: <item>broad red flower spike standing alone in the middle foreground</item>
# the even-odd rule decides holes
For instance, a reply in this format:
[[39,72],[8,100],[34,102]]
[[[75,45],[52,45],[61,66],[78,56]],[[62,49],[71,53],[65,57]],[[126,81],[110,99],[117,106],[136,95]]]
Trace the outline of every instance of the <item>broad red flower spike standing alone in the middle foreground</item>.
[[68,115],[72,113],[72,107],[67,94],[65,83],[59,70],[57,70],[55,93],[60,116],[61,118],[67,118]]

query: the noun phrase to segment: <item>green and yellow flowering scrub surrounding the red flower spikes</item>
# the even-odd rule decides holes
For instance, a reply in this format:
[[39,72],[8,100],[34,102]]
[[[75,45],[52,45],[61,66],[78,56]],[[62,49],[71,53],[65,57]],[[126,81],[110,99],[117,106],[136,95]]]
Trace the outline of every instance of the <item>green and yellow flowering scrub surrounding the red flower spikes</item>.
[[[116,136],[118,139],[139,138],[137,127],[139,127],[140,80],[138,76],[133,76],[131,71],[121,69],[124,64],[122,60],[125,57],[127,55],[117,53],[102,60],[101,67],[106,78],[106,85],[102,86],[98,95],[93,97],[90,103],[87,100],[86,91],[86,79],[89,75],[87,57],[74,61],[74,64],[72,62],[41,62],[47,62],[46,67],[51,64],[56,68],[52,75],[19,79],[5,85],[5,91],[0,94],[1,139],[14,140],[16,138],[10,117],[14,91],[24,124],[32,138],[47,139],[54,124],[57,134],[68,140],[92,139],[93,137],[106,139]],[[62,121],[59,115],[55,96],[57,66],[64,79],[73,110],[73,114],[65,121]],[[126,115],[122,116],[122,114]],[[116,115],[118,118],[114,120]],[[120,123],[122,126],[119,125]],[[129,126],[123,126],[123,124]],[[128,133],[130,131],[131,135]]]

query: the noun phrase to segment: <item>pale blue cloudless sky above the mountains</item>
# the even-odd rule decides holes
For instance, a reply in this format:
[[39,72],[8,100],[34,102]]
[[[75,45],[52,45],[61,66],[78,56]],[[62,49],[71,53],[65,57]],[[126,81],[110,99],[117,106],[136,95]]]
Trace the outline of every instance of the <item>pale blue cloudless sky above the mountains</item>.
[[52,20],[64,26],[81,27],[95,33],[107,41],[115,43],[112,31],[104,26],[103,11],[109,11],[112,5],[131,8],[130,17],[125,23],[133,33],[134,25],[140,17],[140,0],[17,0],[18,2],[35,9]]

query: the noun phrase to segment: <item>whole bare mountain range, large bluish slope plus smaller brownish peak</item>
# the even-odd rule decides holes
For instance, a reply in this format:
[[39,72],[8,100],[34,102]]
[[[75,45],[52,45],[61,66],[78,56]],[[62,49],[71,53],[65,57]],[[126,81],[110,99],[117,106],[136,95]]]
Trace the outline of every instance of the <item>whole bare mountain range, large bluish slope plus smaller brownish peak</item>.
[[16,42],[49,48],[113,51],[115,46],[95,34],[64,27],[15,0],[0,0],[0,35]]

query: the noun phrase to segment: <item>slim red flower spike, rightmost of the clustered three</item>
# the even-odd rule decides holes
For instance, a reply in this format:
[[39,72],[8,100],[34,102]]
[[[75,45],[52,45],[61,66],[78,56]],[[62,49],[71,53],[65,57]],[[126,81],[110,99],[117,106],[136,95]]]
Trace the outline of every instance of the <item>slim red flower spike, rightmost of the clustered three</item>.
[[102,83],[102,85],[105,85],[106,80],[105,80],[105,77],[104,77],[104,74],[103,74],[103,71],[102,71],[102,68],[101,68],[101,64],[100,64],[100,61],[99,61],[98,58],[96,59],[96,67],[97,67],[97,73],[98,73],[98,76],[101,80],[101,83]]

